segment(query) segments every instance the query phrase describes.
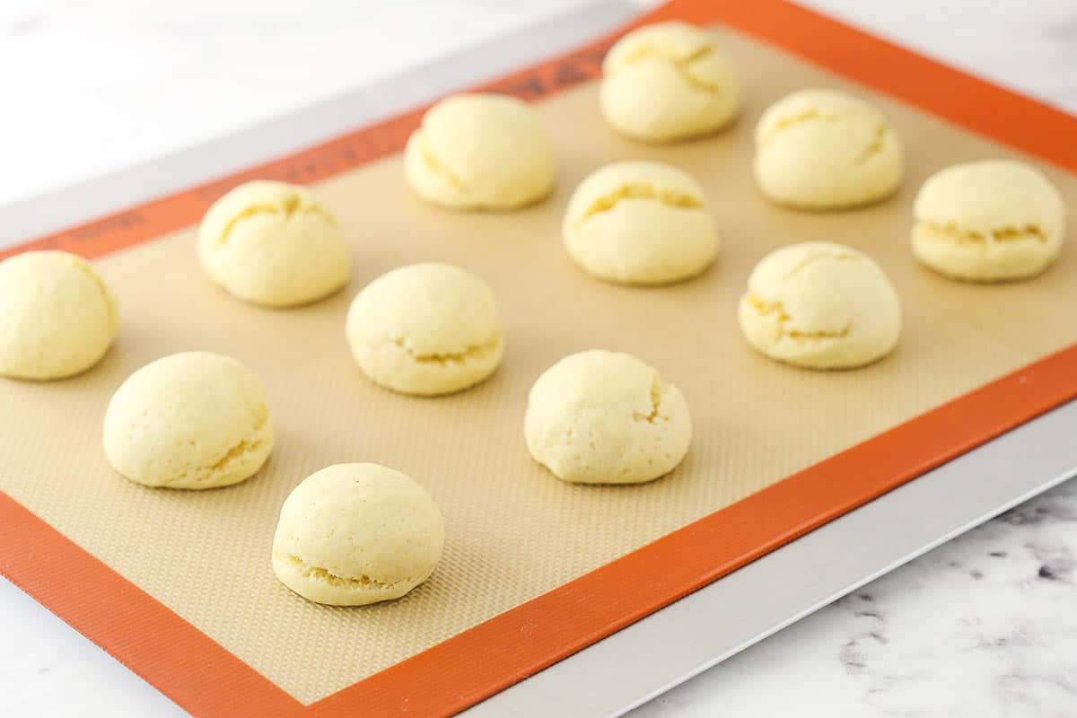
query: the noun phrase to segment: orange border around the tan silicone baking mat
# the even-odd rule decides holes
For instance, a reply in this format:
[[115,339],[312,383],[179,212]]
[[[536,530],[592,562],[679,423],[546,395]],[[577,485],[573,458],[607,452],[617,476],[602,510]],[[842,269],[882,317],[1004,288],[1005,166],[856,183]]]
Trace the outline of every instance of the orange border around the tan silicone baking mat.
[[[658,19],[721,23],[967,129],[1077,171],[1077,117],[784,0],[673,0]],[[485,89],[527,99],[600,75],[605,38]],[[983,108],[991,112],[983,112]],[[98,256],[194,224],[253,178],[310,183],[400,151],[423,109],[17,249]],[[447,716],[1077,396],[1077,346],[928,411],[412,658],[304,706],[0,492],[0,574],[199,715]],[[839,480],[840,479],[840,480]],[[639,576],[649,580],[640,581]]]

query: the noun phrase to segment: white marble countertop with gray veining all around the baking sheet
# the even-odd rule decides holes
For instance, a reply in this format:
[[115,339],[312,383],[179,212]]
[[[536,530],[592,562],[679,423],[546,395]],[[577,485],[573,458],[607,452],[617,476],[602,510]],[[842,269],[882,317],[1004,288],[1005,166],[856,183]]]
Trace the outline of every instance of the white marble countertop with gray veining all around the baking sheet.
[[[520,10],[496,0],[265,0],[252,13],[239,0],[5,0],[0,206],[240,129],[584,1]],[[805,4],[1077,113],[1073,0]],[[632,715],[794,714],[1077,716],[1077,481]],[[183,714],[0,579],[0,715]]]

